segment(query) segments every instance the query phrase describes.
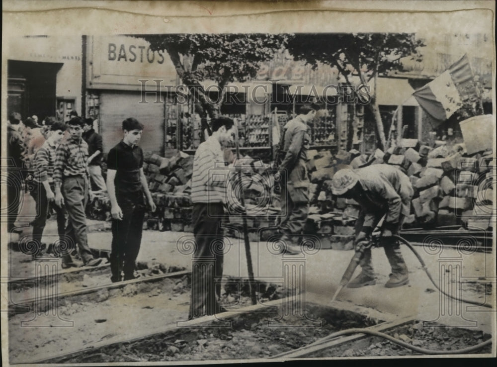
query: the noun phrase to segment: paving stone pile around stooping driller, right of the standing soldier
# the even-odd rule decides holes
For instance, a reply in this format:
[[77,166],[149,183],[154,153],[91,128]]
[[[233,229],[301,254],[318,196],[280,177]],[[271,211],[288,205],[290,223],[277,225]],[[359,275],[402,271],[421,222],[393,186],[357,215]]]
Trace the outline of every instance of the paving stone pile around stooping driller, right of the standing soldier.
[[[332,198],[331,179],[342,168],[386,163],[409,176],[414,188],[411,215],[405,228],[461,226],[489,230],[493,213],[495,164],[491,150],[467,154],[464,144],[434,146],[403,139],[385,153],[377,149],[362,155],[357,150],[310,151],[311,208],[305,232],[320,237],[322,248],[350,249],[353,225],[359,213],[354,200]],[[494,179],[495,181],[495,179]]]

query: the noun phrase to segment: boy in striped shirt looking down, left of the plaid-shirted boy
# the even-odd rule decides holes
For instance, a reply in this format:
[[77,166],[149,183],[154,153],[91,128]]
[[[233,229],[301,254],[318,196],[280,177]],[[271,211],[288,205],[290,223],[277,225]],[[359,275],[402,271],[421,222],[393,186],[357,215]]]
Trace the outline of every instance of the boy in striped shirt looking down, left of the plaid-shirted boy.
[[30,193],[36,203],[36,218],[33,226],[32,239],[41,250],[41,237],[47,223],[47,214],[52,207],[57,215],[57,232],[59,240],[64,236],[64,208],[55,205],[54,164],[57,146],[64,136],[64,124],[56,122],[50,126],[45,143],[36,151],[33,158],[33,185]]

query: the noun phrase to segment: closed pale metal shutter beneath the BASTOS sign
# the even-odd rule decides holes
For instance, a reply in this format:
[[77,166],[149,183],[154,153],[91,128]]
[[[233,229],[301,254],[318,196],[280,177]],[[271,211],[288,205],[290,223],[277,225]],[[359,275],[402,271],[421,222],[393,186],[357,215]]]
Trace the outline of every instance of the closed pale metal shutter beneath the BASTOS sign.
[[137,92],[102,92],[100,94],[99,125],[103,151],[114,147],[123,137],[122,122],[134,117],[145,125],[140,146],[144,151],[164,153],[164,103],[153,103],[155,96],[147,96],[149,103],[139,103]]

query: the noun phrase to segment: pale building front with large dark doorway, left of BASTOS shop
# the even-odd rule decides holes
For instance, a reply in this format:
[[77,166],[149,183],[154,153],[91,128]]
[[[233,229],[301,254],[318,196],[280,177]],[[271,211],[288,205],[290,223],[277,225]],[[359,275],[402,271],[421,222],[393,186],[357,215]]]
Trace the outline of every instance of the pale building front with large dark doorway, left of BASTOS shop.
[[23,36],[7,41],[7,114],[61,121],[82,111],[82,37]]

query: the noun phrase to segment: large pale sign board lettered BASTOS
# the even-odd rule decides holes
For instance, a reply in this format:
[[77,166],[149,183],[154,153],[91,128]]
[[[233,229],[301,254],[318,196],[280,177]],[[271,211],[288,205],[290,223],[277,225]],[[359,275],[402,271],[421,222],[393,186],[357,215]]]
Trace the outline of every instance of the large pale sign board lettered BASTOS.
[[165,51],[152,51],[141,38],[89,36],[87,42],[87,88],[140,91],[145,80],[161,90],[178,84],[176,70]]

